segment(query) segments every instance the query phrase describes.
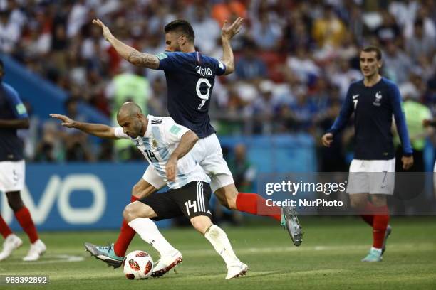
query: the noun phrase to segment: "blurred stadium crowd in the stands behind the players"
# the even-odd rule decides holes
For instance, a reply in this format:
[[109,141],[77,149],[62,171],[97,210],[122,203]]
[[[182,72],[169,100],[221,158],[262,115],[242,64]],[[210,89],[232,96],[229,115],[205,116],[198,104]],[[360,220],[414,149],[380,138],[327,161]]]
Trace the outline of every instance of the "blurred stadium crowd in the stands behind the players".
[[[105,42],[93,18],[120,40],[147,53],[165,50],[165,23],[185,18],[199,51],[221,58],[224,19],[246,19],[232,41],[236,71],[214,85],[211,117],[218,134],[308,132],[319,139],[338,115],[350,82],[360,79],[359,50],[383,49],[383,75],[403,98],[436,112],[436,3],[432,0],[1,0],[0,50],[66,90],[71,117],[85,119],[77,102],[113,118],[127,100],[148,114],[167,115],[165,75],[125,62]],[[49,61],[47,61],[49,60]],[[26,100],[26,96],[22,96]],[[430,110],[429,110],[430,109]],[[81,134],[59,141],[54,124],[28,132],[36,161],[107,160]],[[346,170],[343,142],[320,149],[322,170]],[[30,135],[30,136],[29,136]],[[422,136],[420,136],[422,139]],[[128,149],[130,150],[130,149]],[[128,158],[140,158],[129,151]],[[336,161],[334,161],[336,160]],[[323,167],[324,166],[324,167]]]

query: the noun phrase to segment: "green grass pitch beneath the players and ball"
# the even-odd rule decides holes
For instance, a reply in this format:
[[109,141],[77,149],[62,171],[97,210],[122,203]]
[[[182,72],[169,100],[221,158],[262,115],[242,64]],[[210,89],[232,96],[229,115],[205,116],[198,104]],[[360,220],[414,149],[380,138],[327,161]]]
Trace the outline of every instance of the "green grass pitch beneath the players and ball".
[[[266,219],[255,219],[254,223]],[[355,217],[301,217],[304,240],[292,245],[275,224],[224,227],[235,252],[249,265],[247,276],[225,280],[226,268],[209,242],[191,228],[162,230],[180,249],[183,263],[158,279],[130,281],[90,257],[83,242],[105,244],[118,232],[43,232],[48,252],[38,262],[21,262],[24,246],[0,262],[0,274],[48,275],[45,286],[1,289],[436,289],[436,217],[392,218],[393,234],[383,262],[360,262],[368,252],[371,230]],[[156,252],[139,237],[129,251]]]

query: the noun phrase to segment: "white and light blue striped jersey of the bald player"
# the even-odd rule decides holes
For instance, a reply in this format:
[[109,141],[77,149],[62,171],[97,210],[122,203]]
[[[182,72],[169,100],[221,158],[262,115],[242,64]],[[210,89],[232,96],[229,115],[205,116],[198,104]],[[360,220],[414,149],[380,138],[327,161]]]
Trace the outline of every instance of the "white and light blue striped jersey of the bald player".
[[203,168],[194,160],[190,152],[177,162],[177,176],[175,181],[167,180],[165,165],[170,159],[172,152],[177,148],[189,129],[176,124],[170,117],[147,116],[148,125],[144,136],[130,138],[124,134],[122,127],[115,128],[115,136],[120,139],[130,139],[142,152],[145,159],[153,166],[157,174],[163,178],[171,189],[181,188],[192,181],[204,181],[210,183],[210,178]]

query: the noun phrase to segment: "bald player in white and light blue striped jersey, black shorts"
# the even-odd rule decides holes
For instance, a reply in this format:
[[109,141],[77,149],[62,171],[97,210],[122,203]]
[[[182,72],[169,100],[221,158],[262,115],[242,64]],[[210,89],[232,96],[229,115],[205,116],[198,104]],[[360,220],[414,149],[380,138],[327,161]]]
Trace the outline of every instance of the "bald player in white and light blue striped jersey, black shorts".
[[[160,253],[152,276],[162,276],[182,262],[182,254],[165,240],[152,220],[180,215],[189,218],[192,226],[209,240],[224,259],[226,279],[246,274],[249,268],[234,254],[226,233],[212,223],[210,178],[192,156],[191,149],[198,141],[193,131],[175,123],[170,117],[145,117],[133,102],[127,102],[120,108],[117,115],[120,127],[115,128],[76,122],[60,114],[51,114],[51,117],[60,119],[65,127],[101,138],[130,139],[160,178],[165,180],[170,190],[130,203],[123,212],[128,225]],[[117,259],[112,245],[95,247],[86,243],[85,247],[98,259]]]

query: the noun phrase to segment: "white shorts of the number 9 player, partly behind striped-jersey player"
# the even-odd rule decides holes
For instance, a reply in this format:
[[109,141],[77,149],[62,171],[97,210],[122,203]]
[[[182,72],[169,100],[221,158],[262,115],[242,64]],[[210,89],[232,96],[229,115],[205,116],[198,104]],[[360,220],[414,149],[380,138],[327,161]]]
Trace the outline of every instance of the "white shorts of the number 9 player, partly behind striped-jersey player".
[[[234,183],[229,166],[227,166],[227,162],[222,157],[222,149],[217,134],[199,139],[191,149],[190,154],[194,156],[194,159],[210,177],[212,192]],[[147,167],[142,179],[155,188],[162,188],[166,185],[165,181],[157,175],[153,166]]]

